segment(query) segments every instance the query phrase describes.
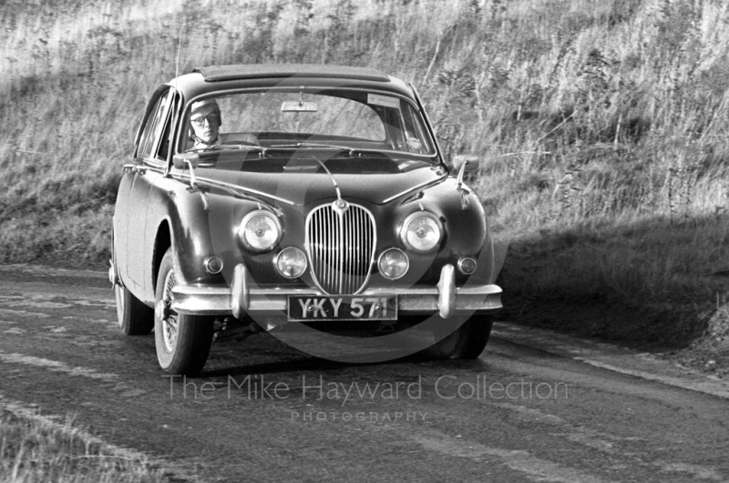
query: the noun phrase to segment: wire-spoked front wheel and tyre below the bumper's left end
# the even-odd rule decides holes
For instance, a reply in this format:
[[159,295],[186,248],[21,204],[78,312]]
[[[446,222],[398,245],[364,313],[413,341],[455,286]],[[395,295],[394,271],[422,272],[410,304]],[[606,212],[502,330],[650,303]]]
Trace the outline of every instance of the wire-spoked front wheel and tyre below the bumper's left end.
[[214,317],[178,314],[169,308],[177,285],[172,249],[159,266],[154,317],[159,367],[169,374],[192,376],[200,372],[210,354]]

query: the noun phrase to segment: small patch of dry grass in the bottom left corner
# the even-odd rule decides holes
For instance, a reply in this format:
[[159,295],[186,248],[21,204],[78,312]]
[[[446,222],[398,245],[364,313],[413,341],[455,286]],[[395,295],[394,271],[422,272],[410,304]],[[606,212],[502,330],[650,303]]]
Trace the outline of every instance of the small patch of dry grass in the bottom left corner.
[[0,481],[153,483],[168,481],[137,454],[104,445],[73,426],[0,411]]

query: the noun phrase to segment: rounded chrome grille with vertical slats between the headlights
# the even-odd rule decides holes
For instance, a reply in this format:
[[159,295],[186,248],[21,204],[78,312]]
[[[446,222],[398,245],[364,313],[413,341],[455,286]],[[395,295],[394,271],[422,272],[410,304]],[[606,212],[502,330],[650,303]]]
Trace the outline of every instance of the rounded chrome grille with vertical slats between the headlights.
[[375,221],[362,206],[349,205],[344,213],[318,206],[306,218],[312,276],[327,294],[355,294],[364,287],[375,242]]

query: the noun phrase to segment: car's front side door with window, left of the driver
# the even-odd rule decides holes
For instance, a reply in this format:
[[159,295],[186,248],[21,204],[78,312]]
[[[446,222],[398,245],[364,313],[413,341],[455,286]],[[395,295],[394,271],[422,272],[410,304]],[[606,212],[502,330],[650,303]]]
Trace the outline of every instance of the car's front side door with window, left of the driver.
[[[158,91],[159,93],[159,91]],[[159,177],[163,176],[167,160],[160,156],[165,126],[168,121],[172,99],[171,89],[164,90],[156,100],[143,127],[142,135],[130,171],[130,188],[127,203],[126,272],[129,290],[139,299],[151,284],[145,277],[149,272],[144,259],[144,233],[147,223],[149,191]]]

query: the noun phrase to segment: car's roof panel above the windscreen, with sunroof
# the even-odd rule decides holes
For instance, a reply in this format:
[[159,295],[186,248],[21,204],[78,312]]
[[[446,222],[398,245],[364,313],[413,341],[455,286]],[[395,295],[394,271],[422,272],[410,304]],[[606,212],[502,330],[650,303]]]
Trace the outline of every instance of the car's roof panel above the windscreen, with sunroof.
[[316,64],[210,65],[194,68],[167,83],[187,100],[222,90],[269,86],[356,87],[389,91],[409,98],[402,80],[367,67]]

